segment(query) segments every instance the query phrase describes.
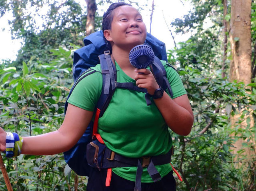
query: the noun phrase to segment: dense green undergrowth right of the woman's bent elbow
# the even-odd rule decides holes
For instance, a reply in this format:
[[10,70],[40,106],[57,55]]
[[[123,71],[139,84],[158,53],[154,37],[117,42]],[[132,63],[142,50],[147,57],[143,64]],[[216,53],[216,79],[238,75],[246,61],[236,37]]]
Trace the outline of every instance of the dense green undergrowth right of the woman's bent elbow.
[[[222,79],[217,71],[212,73],[204,63],[213,62],[214,53],[196,54],[197,45],[192,40],[180,43],[179,47],[169,51],[168,58],[178,66],[193,109],[194,126],[186,137],[172,133],[174,166],[184,178],[184,182],[177,181],[177,190],[255,190],[252,188],[255,188],[256,158],[249,162],[247,156],[234,156],[230,151],[241,136],[248,144],[244,144],[239,153],[245,148],[255,150],[256,126],[250,126],[248,116],[252,112],[256,119],[256,84],[249,84],[250,91],[243,83],[231,83]],[[243,114],[237,126],[230,126],[230,114],[241,110]],[[243,122],[246,122],[245,128],[241,128]],[[244,161],[246,171],[236,168],[235,157]]]

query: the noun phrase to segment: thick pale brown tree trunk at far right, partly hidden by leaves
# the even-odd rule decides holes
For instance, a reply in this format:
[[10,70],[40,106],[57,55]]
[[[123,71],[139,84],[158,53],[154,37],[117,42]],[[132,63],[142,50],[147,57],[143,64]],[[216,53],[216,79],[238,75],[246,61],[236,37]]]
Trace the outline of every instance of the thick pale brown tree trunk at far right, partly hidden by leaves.
[[[237,80],[246,85],[251,83],[252,79],[251,6],[252,0],[231,1],[230,43],[233,59],[230,63],[230,81]],[[250,87],[247,88],[250,89]],[[232,125],[238,124],[239,118],[239,114],[231,117]],[[239,125],[239,128],[248,128],[246,122]],[[235,142],[233,153],[237,154],[242,148],[242,143],[246,141],[240,138]],[[248,156],[248,160],[253,157],[250,148],[246,148],[244,154]]]

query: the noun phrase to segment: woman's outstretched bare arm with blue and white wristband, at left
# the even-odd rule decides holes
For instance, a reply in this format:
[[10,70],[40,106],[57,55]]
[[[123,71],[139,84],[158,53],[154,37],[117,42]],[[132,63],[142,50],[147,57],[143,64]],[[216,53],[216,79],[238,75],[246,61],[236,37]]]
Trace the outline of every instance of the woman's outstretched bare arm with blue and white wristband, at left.
[[[68,104],[64,121],[60,128],[46,134],[23,137],[22,154],[52,155],[65,152],[72,148],[85,132],[92,111],[84,110],[72,104]],[[5,150],[6,133],[0,131],[0,149]],[[4,139],[4,140],[3,140]],[[4,142],[4,143],[3,143]]]

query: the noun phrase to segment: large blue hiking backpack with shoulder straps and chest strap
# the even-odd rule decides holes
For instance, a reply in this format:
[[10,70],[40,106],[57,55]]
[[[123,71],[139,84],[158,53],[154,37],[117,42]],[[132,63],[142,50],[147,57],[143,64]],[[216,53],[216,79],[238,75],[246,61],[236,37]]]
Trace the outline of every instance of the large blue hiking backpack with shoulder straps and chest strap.
[[[172,91],[169,82],[166,78],[166,71],[162,65],[161,60],[167,61],[165,44],[159,41],[150,33],[147,33],[146,41],[150,45],[155,53],[155,61],[152,64],[154,75],[156,76],[157,83],[163,87],[164,90],[168,90],[172,96]],[[147,93],[146,89],[138,88],[132,83],[118,83],[116,82],[116,68],[111,61],[110,51],[106,50],[106,44],[103,39],[103,32],[95,32],[84,38],[84,47],[74,52],[73,63],[73,77],[74,85],[70,90],[68,98],[72,94],[74,87],[87,75],[96,72],[93,69],[89,69],[100,63],[102,69],[103,87],[102,93],[96,107],[96,117],[94,122],[90,122],[86,131],[70,150],[64,152],[64,159],[68,163],[69,167],[76,172],[77,175],[88,176],[90,172],[90,166],[86,160],[86,145],[92,141],[92,137],[97,134],[98,118],[100,118],[114,94],[116,88],[132,89],[134,91]],[[171,66],[171,65],[170,65]],[[172,67],[172,66],[171,66]],[[82,77],[81,77],[82,76]],[[81,77],[81,78],[80,78]],[[145,96],[146,97],[146,96]],[[150,98],[146,98],[147,104],[150,104]],[[68,106],[68,102],[65,103],[65,111]],[[99,140],[99,139],[98,139]]]

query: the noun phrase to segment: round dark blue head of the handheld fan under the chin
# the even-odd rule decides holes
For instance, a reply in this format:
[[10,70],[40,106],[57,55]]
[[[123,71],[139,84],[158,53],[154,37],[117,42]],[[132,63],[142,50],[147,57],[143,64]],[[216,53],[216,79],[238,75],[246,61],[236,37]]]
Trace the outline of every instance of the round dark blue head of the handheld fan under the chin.
[[152,48],[145,44],[133,47],[129,53],[130,63],[138,69],[150,66],[154,62],[154,57]]

